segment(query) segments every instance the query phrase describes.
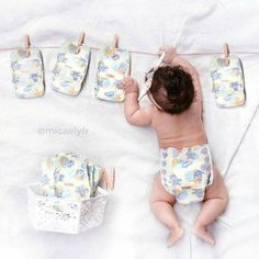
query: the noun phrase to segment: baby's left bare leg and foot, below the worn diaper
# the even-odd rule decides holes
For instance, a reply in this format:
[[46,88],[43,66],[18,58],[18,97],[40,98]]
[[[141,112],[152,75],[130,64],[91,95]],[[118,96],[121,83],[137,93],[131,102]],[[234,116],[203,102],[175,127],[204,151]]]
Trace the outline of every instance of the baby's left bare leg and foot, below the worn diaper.
[[176,203],[176,198],[168,193],[162,187],[160,173],[154,179],[149,203],[157,219],[170,230],[168,246],[173,246],[183,236],[184,232],[172,209]]

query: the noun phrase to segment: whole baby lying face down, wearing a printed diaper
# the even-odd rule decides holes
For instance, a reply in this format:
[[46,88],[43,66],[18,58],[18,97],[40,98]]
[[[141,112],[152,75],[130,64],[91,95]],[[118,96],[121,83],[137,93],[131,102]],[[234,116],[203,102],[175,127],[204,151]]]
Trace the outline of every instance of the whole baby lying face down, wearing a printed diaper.
[[151,125],[160,148],[160,172],[155,177],[150,192],[150,209],[170,230],[168,246],[173,246],[184,234],[173,205],[203,201],[193,224],[193,234],[214,245],[209,232],[225,210],[227,190],[215,165],[212,164],[202,122],[202,94],[199,74],[173,47],[161,47],[165,66],[153,71],[148,97],[153,104],[140,108],[138,87],[125,77],[124,113],[128,123]]

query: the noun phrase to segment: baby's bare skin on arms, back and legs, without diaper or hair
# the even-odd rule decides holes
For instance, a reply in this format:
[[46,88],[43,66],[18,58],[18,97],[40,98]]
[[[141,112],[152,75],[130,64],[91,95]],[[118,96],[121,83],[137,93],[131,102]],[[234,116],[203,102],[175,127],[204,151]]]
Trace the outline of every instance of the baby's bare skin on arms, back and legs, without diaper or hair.
[[[180,65],[192,76],[195,100],[187,111],[177,115],[168,114],[154,104],[140,108],[137,100],[137,83],[133,78],[126,77],[123,80],[123,88],[126,92],[125,117],[134,125],[151,125],[157,133],[159,148],[174,147],[181,149],[205,144],[206,134],[202,122],[202,94],[199,74],[191,64],[178,56],[172,47],[160,50],[167,53],[164,59],[165,63],[171,66]],[[214,245],[215,240],[207,230],[207,226],[223,213],[227,201],[226,188],[217,168],[214,166],[213,184],[206,189],[202,210],[193,224],[193,233],[211,245]],[[150,192],[150,209],[156,217],[169,228],[169,246],[173,246],[183,236],[183,229],[172,209],[174,203],[176,198],[165,190],[158,173],[155,177]]]

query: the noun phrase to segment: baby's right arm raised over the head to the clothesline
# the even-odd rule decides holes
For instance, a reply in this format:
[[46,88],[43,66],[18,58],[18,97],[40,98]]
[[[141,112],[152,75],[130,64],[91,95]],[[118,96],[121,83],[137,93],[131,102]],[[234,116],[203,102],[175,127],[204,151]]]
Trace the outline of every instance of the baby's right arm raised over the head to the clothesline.
[[191,75],[195,89],[195,99],[201,101],[202,94],[198,70],[189,61],[180,57],[173,47],[161,47],[159,53],[161,54],[162,52],[166,52],[166,57],[164,59],[165,63],[170,64],[171,66],[181,66],[187,72]]

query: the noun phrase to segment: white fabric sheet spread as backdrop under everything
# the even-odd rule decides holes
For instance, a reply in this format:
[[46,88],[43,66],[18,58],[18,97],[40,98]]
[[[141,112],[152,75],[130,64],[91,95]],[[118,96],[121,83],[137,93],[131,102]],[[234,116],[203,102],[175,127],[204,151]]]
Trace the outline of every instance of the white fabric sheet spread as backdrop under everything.
[[[59,46],[87,32],[91,46],[102,47],[120,35],[120,46],[154,52],[176,44],[180,53],[259,50],[257,1],[216,0],[105,0],[0,2],[0,47],[32,44]],[[259,155],[257,114],[226,176],[229,206],[213,225],[216,246],[191,235],[199,206],[177,206],[187,228],[176,247],[165,246],[168,230],[153,216],[148,192],[158,170],[158,147],[151,128],[128,125],[123,105],[94,99],[98,52],[93,50],[87,82],[77,98],[53,92],[50,64],[56,49],[44,48],[46,93],[35,100],[14,98],[10,52],[0,52],[0,256],[1,258],[258,258]],[[210,56],[187,56],[201,75],[204,123],[213,158],[226,172],[239,140],[259,103],[259,60],[240,55],[245,69],[247,102],[243,108],[216,108],[211,93]],[[156,58],[132,55],[132,75],[143,82]],[[48,134],[46,128],[87,130],[87,134]],[[70,150],[117,169],[113,192],[101,227],[77,236],[36,232],[26,215],[26,184],[41,176],[43,156]]]

